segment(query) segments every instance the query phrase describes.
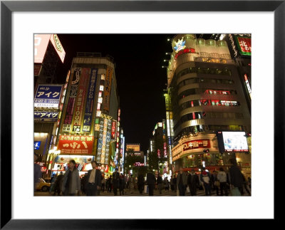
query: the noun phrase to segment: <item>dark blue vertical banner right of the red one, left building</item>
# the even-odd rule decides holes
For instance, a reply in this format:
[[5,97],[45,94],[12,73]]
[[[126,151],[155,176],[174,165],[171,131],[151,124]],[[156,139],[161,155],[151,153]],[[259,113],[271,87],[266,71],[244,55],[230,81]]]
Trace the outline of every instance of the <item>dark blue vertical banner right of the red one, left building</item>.
[[84,120],[83,120],[82,131],[84,132],[90,132],[97,73],[98,73],[98,68],[91,69],[91,76],[90,76],[90,82],[88,86],[88,93],[87,93],[87,100],[86,100],[85,115],[84,115]]

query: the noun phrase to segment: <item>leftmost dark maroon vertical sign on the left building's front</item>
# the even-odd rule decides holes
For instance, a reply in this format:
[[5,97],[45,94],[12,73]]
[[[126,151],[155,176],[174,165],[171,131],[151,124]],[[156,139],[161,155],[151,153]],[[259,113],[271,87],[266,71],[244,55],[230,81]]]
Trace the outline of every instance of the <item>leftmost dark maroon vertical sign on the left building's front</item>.
[[71,132],[71,122],[73,117],[73,110],[74,110],[74,103],[76,100],[77,90],[78,90],[78,83],[81,78],[81,68],[75,68],[73,72],[72,82],[71,82],[71,89],[69,91],[69,98],[66,108],[66,117],[63,120],[63,132]]

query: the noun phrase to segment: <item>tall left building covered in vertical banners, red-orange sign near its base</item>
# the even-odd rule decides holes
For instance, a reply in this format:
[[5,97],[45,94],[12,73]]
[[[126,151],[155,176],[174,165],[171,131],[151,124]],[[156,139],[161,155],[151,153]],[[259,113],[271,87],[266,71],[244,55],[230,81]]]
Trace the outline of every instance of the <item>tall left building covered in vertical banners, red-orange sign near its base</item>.
[[102,57],[100,53],[77,53],[56,140],[61,155],[56,158],[59,166],[55,167],[63,169],[68,159],[77,156],[80,174],[90,169],[92,160],[98,162],[103,172],[113,172],[117,123],[113,58]]

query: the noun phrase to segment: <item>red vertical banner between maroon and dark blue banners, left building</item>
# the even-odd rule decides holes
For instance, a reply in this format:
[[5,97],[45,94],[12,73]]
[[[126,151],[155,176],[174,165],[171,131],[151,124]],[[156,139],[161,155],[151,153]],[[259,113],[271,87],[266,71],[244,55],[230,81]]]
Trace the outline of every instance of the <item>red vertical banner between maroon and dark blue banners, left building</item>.
[[85,103],[86,85],[88,83],[89,75],[90,75],[90,68],[83,68],[81,80],[79,83],[76,103],[74,105],[75,108],[73,112],[73,132],[80,132],[81,130],[83,105]]

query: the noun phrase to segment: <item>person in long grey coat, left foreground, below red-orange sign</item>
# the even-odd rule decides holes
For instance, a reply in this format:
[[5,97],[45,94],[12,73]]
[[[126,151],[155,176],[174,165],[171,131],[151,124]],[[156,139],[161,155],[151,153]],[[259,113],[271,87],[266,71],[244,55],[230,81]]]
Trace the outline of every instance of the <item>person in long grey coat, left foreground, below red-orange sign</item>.
[[69,161],[68,169],[63,177],[63,183],[61,191],[64,196],[79,195],[81,189],[81,181],[79,177],[79,171],[76,169],[76,162],[74,160]]

